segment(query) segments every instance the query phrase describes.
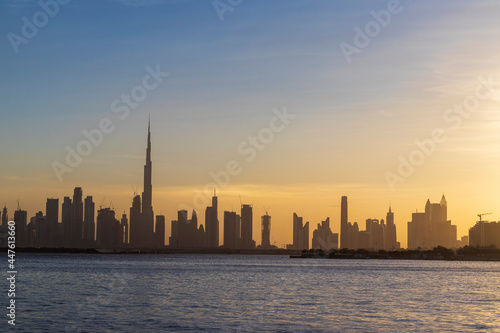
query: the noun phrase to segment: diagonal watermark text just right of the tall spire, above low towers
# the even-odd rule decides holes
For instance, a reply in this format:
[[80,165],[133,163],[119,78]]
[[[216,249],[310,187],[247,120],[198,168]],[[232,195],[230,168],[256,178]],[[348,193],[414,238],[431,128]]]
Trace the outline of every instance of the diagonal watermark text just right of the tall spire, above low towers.
[[[273,117],[268,126],[261,128],[256,135],[249,135],[236,147],[236,151],[246,163],[253,162],[260,151],[263,151],[274,141],[277,133],[283,132],[297,115],[288,113],[286,107],[283,110],[273,109]],[[229,160],[226,167],[219,171],[210,171],[208,176],[213,180],[205,185],[203,191],[194,190],[193,207],[202,209],[210,202],[210,194],[213,189],[223,189],[229,185],[231,178],[243,172],[242,162],[236,159]],[[181,204],[179,209],[192,210],[193,207]]]

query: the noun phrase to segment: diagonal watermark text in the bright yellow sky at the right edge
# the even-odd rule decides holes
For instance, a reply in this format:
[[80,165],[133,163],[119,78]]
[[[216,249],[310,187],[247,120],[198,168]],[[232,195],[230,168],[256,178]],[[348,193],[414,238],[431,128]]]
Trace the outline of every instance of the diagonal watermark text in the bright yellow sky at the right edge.
[[493,75],[490,74],[486,79],[478,78],[474,92],[466,96],[461,103],[453,105],[443,113],[443,121],[447,124],[445,128],[435,128],[431,131],[429,137],[422,140],[415,140],[415,149],[407,156],[399,155],[399,165],[395,172],[386,171],[384,174],[387,185],[391,191],[396,190],[396,185],[404,183],[411,177],[419,166],[432,156],[437,150],[438,145],[448,140],[451,130],[456,131],[462,127],[464,120],[468,119],[479,108],[480,102],[488,100],[500,87],[500,82],[493,81]]

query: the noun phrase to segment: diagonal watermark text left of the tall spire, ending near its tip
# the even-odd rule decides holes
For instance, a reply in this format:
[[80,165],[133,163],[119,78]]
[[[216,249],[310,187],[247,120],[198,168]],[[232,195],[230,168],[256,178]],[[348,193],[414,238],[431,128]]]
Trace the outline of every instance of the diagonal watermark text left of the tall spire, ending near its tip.
[[[155,69],[147,66],[146,72],[147,74],[144,75],[141,84],[133,87],[129,93],[121,94],[120,98],[116,98],[111,102],[111,112],[116,114],[119,120],[123,121],[127,119],[130,111],[137,109],[139,103],[148,97],[148,92],[158,88],[169,75],[169,73],[161,71],[160,65],[156,65]],[[64,174],[73,172],[83,162],[84,157],[92,154],[94,148],[102,144],[105,135],[109,135],[115,131],[115,123],[111,118],[102,118],[95,128],[82,130],[81,133],[84,139],[80,140],[74,147],[70,145],[66,146],[64,161],[62,163],[53,161],[51,164],[52,170],[59,182],[63,181]]]

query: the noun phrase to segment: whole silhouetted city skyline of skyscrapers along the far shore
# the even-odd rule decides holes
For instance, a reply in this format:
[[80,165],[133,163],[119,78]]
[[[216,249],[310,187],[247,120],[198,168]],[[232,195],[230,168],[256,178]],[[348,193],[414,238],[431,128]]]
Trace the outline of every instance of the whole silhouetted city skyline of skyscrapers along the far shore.
[[[83,200],[83,190],[75,187],[73,199],[64,197],[61,205],[61,223],[59,223],[59,199],[47,198],[46,215],[42,211],[27,220],[27,213],[18,208],[14,214],[19,224],[20,246],[29,247],[76,247],[76,248],[158,248],[168,245],[172,249],[215,249],[220,246],[227,249],[272,249],[278,248],[276,242],[271,244],[271,216],[264,207],[265,215],[261,222],[261,244],[255,246],[253,240],[253,206],[241,202],[241,215],[234,210],[224,211],[222,228],[219,221],[217,189],[214,189],[211,206],[205,209],[204,225],[200,223],[196,209],[193,208],[191,219],[186,210],[177,211],[177,220],[171,220],[170,235],[166,233],[164,215],[154,215],[152,207],[152,142],[151,119],[148,119],[146,162],[143,169],[142,197],[134,193],[130,207],[130,225],[124,212],[121,221],[114,208],[102,207],[97,211],[95,219],[95,203],[92,196]],[[228,171],[229,172],[229,171]],[[85,203],[85,204],[84,204]],[[468,244],[468,236],[457,239],[457,226],[448,219],[448,204],[443,194],[439,203],[427,200],[425,212],[413,213],[408,222],[407,248],[432,249],[436,246],[459,248]],[[330,217],[318,223],[313,231],[312,247],[323,250],[375,249],[398,250],[401,242],[397,241],[397,226],[394,220],[392,205],[386,219],[366,219],[365,230],[360,230],[361,223],[349,220],[348,197],[342,196],[340,203],[340,237],[332,232]],[[489,215],[491,213],[487,213]],[[484,215],[484,214],[483,214]],[[243,218],[242,218],[243,217]],[[478,215],[481,219],[481,215]],[[8,210],[3,208],[2,227],[6,230]],[[97,220],[97,221],[96,221]],[[156,221],[156,224],[155,224]],[[130,232],[129,232],[130,230]],[[472,228],[470,228],[472,230]],[[282,248],[303,250],[309,249],[309,222],[293,213],[292,242],[283,244]],[[222,237],[221,237],[222,235]],[[168,239],[168,243],[165,240]],[[464,241],[464,239],[467,239]],[[130,242],[128,242],[130,240]],[[222,241],[220,241],[222,240]]]

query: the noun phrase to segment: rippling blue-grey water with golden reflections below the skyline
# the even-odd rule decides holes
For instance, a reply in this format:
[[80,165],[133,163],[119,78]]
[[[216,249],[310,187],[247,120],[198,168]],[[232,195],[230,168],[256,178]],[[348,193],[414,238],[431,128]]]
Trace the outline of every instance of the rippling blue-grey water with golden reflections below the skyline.
[[497,262],[88,254],[17,260],[15,331],[500,331]]

